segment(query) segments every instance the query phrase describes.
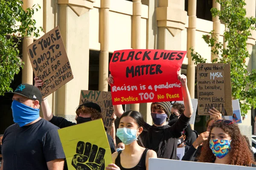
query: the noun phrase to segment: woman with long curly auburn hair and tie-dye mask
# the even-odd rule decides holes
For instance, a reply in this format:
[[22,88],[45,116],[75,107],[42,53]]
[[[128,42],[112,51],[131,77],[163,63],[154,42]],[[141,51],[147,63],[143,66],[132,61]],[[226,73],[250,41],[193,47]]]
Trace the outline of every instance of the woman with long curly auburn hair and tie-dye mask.
[[198,161],[256,167],[253,154],[238,125],[229,120],[213,122]]

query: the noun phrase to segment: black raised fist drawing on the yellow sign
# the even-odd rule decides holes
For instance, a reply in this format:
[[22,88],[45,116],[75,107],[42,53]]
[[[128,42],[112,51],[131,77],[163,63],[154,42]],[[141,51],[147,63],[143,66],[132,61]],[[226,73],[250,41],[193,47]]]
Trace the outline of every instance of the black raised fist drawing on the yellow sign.
[[73,157],[72,165],[76,170],[104,170],[105,152],[104,148],[98,148],[95,144],[92,146],[89,142],[79,141],[76,146],[77,154]]

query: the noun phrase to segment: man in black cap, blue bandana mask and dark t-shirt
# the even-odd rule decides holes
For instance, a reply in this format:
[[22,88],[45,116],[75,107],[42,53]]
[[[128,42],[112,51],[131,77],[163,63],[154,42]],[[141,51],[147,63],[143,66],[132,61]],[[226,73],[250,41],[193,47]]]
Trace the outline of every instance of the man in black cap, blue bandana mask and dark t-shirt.
[[58,127],[39,116],[41,91],[33,85],[21,84],[13,93],[12,115],[2,140],[0,170],[63,170],[65,154]]

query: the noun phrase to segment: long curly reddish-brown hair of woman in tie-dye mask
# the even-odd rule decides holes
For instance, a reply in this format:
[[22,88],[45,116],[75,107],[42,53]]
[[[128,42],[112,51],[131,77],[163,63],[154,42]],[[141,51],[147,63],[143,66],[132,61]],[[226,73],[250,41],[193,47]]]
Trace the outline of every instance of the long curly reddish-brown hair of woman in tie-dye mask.
[[[241,135],[238,125],[234,123],[231,125],[228,125],[224,122],[215,122],[211,127],[211,131],[214,127],[221,128],[232,139],[232,141],[230,142],[231,156],[227,164],[249,166],[250,164],[255,163],[253,154],[250,151],[250,148],[248,147],[248,144],[244,136]],[[209,140],[210,140],[210,136],[208,137],[208,140],[203,144],[203,150],[198,159],[198,161],[200,162],[213,163],[216,159],[216,157],[212,153],[212,150],[209,147]]]

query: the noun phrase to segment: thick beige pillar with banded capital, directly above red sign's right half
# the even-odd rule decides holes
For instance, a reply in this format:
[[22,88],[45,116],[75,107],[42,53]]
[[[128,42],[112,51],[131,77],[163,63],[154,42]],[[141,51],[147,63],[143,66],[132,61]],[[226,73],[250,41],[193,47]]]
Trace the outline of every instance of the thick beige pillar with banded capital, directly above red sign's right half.
[[159,0],[157,14],[157,49],[184,50],[182,31],[185,30],[187,12],[184,0]]

